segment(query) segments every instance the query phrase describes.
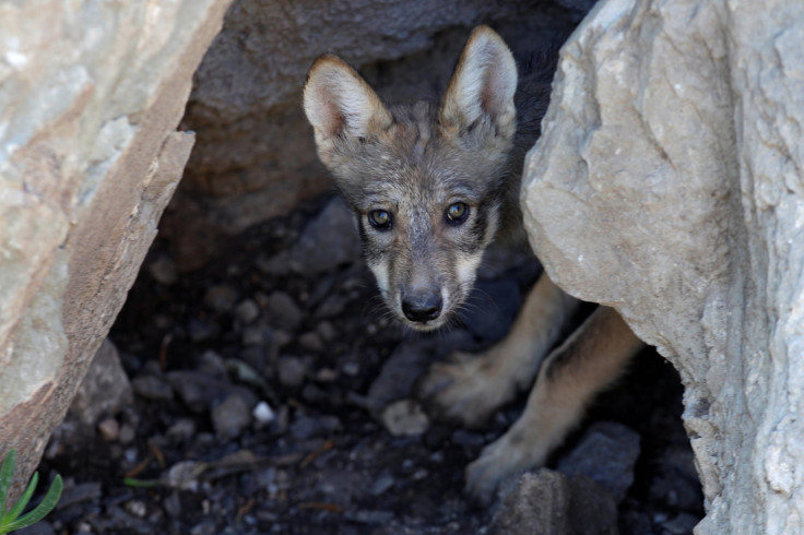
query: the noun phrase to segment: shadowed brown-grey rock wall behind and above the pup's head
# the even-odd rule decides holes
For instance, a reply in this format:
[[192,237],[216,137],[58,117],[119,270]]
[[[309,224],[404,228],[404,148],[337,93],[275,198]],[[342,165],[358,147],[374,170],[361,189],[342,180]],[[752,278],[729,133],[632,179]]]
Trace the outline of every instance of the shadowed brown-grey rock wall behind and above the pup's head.
[[534,43],[568,35],[589,3],[236,0],[184,121],[197,148],[164,234],[178,265],[202,265],[223,236],[331,188],[300,104],[318,56],[341,56],[391,100],[435,98],[473,26],[493,24],[528,61]]

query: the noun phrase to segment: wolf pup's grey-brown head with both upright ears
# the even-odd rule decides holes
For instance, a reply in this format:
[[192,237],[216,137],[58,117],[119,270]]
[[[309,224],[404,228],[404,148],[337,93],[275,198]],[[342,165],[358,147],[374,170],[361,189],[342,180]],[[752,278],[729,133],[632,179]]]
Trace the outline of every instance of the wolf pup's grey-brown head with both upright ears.
[[388,108],[334,56],[310,69],[304,106],[318,155],[357,217],[386,304],[414,329],[442,325],[465,301],[497,230],[516,88],[513,57],[485,26],[440,107]]

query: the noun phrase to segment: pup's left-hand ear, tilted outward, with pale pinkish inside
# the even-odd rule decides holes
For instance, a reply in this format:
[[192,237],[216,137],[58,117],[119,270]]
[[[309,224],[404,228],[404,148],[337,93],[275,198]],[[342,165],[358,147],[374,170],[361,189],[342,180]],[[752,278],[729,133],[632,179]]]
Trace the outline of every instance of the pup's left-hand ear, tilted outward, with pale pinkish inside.
[[365,138],[391,126],[391,114],[371,87],[341,58],[321,56],[312,63],[304,91],[307,120],[321,148],[334,138]]

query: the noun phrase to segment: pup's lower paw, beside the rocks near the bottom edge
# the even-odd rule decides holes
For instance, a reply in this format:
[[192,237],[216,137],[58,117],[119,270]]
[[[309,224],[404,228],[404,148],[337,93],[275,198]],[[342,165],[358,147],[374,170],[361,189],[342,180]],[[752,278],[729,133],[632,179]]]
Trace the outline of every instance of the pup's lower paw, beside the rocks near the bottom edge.
[[546,457],[545,448],[532,443],[524,433],[509,430],[466,466],[465,491],[475,502],[488,507],[505,482],[544,465]]

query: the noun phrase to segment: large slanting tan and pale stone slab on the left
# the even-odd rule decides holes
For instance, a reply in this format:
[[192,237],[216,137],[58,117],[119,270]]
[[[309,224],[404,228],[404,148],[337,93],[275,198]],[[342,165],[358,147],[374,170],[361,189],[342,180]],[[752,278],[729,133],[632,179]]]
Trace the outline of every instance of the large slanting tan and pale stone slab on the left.
[[0,454],[38,461],[126,298],[225,0],[0,5]]

